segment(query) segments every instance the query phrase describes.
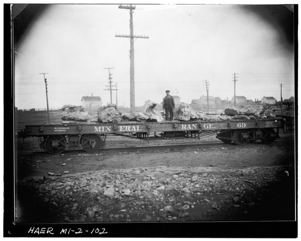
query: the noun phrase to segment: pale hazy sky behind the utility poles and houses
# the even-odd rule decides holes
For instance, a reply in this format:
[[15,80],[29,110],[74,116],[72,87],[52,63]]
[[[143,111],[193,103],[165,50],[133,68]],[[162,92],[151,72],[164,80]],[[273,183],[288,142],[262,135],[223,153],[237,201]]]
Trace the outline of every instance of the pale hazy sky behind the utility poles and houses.
[[[135,105],[207,95],[231,99],[294,96],[294,46],[272,19],[248,5],[135,5]],[[109,71],[119,106],[130,106],[129,10],[117,4],[49,5],[14,44],[18,109],[81,105],[82,96],[110,103]],[[116,104],[116,91],[112,91]]]

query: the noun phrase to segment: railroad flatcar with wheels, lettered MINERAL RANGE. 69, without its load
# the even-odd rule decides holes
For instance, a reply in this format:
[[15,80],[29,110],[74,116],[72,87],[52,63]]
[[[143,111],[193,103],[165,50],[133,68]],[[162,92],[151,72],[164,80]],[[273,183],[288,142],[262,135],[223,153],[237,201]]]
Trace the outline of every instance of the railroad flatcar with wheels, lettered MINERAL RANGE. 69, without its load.
[[[103,148],[108,135],[129,138],[164,139],[197,138],[216,135],[225,143],[245,145],[261,140],[271,144],[284,129],[285,119],[164,121],[155,123],[121,122],[116,124],[36,124],[26,125],[20,137],[38,137],[40,148],[50,154],[60,154],[66,148],[83,148],[93,153]],[[159,133],[159,134],[158,134]],[[24,139],[23,139],[24,141]]]

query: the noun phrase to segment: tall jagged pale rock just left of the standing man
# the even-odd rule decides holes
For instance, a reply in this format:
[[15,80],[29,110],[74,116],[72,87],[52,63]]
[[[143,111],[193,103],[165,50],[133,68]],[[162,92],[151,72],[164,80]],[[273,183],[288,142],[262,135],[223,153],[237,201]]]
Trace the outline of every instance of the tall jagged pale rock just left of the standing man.
[[160,111],[157,110],[156,105],[158,103],[147,100],[144,103],[142,111],[138,114],[135,114],[135,117],[138,121],[145,121],[145,122],[162,122],[164,118]]

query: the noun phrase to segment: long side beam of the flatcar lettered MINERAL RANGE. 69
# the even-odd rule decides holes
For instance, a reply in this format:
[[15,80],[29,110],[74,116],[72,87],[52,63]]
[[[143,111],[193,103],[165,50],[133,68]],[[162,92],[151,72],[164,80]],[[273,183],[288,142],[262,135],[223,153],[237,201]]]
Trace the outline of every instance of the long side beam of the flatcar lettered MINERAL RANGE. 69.
[[122,122],[116,124],[35,124],[26,125],[27,136],[107,134],[107,133],[154,133],[170,131],[236,130],[253,128],[283,128],[282,119],[229,120],[229,121],[164,121]]

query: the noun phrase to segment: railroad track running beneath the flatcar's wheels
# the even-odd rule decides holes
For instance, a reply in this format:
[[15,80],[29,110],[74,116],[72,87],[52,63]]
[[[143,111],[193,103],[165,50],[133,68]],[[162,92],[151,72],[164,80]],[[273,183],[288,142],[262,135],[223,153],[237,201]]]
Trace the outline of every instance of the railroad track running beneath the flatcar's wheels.
[[[234,143],[225,144],[221,143],[200,143],[200,144],[187,144],[187,145],[162,145],[162,146],[142,146],[142,147],[123,147],[123,148],[102,148],[94,153],[88,153],[84,150],[66,150],[63,154],[99,154],[105,152],[122,152],[122,151],[151,151],[151,150],[168,150],[168,149],[188,149],[188,148],[240,148],[252,146],[275,146],[275,145],[290,145],[294,144],[294,140],[276,140],[272,144],[263,144],[262,142],[250,142],[247,145],[235,145]],[[46,151],[22,151],[17,152],[19,156],[51,156]],[[61,155],[61,154],[59,154]]]

